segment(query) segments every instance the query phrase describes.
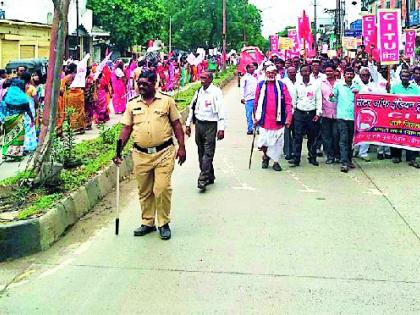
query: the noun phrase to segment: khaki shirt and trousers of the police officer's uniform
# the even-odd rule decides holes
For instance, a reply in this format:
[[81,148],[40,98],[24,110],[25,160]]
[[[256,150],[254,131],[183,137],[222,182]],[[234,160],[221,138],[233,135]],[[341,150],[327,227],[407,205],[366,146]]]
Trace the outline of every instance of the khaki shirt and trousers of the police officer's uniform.
[[[133,127],[134,142],[142,148],[163,144],[173,136],[171,122],[180,119],[175,101],[156,93],[152,104],[146,105],[139,96],[127,104],[121,123]],[[133,150],[141,206],[142,224],[158,227],[170,222],[171,177],[175,166],[175,146],[148,154]]]

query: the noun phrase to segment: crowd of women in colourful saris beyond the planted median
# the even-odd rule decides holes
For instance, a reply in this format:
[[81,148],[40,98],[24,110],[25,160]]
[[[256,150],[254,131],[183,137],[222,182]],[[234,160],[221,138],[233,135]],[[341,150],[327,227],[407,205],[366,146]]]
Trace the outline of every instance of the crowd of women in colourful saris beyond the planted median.
[[[199,80],[203,71],[219,71],[220,54],[150,53],[133,57],[127,64],[111,60],[111,54],[100,63],[88,66],[83,60],[64,61],[60,97],[57,106],[56,134],[61,136],[66,116],[70,128],[78,134],[110,120],[110,112],[123,114],[127,102],[138,95],[137,80],[141,72],[157,75],[159,90],[174,93]],[[0,122],[2,126],[2,158],[20,160],[36,150],[40,132],[45,82],[42,70],[29,72],[25,65],[7,73],[0,69]],[[70,111],[69,111],[70,110]]]

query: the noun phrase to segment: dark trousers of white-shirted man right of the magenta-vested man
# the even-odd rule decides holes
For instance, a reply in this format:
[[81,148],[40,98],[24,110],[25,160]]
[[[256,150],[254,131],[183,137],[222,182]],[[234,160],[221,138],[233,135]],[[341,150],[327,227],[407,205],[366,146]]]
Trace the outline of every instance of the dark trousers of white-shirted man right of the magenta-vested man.
[[313,119],[316,111],[304,112],[299,109],[295,110],[293,114],[294,121],[294,139],[293,139],[293,154],[294,159],[300,162],[302,156],[303,136],[308,136],[308,156],[310,159],[316,159],[316,138],[319,132],[319,121],[314,122]]

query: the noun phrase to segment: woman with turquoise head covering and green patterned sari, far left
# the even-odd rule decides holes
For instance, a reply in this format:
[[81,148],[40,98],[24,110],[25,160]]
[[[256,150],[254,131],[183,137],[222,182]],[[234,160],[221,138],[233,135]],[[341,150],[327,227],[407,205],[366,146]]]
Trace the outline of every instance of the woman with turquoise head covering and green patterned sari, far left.
[[25,138],[31,136],[25,133],[25,121],[29,121],[30,127],[35,127],[35,119],[29,105],[29,97],[24,92],[24,81],[13,78],[6,82],[4,87],[8,87],[8,91],[0,103],[0,124],[3,127],[1,155],[3,159],[16,160],[23,157]]

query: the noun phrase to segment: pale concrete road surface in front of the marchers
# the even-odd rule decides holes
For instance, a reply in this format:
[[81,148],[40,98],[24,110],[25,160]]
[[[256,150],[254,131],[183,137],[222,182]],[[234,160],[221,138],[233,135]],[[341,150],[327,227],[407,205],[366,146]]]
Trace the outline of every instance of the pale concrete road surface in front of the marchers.
[[[419,171],[390,161],[262,170],[234,84],[216,183],[177,167],[173,238],[134,238],[136,186],[110,195],[52,249],[0,264],[2,314],[420,313]],[[360,167],[362,166],[362,167]],[[2,285],[2,286],[1,286]],[[2,288],[3,287],[3,288]]]

